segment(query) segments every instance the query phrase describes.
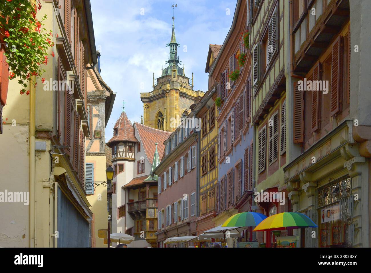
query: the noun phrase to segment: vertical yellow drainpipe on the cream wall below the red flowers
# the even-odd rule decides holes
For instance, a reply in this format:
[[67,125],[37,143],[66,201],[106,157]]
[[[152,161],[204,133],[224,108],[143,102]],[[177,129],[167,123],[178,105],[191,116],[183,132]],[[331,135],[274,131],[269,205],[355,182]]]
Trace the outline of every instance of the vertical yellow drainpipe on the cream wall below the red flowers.
[[[31,77],[32,82],[36,82],[36,77]],[[36,245],[36,198],[35,198],[35,105],[36,105],[36,88],[30,84],[30,169],[29,169],[29,191],[30,191],[30,205],[29,205],[29,247]]]

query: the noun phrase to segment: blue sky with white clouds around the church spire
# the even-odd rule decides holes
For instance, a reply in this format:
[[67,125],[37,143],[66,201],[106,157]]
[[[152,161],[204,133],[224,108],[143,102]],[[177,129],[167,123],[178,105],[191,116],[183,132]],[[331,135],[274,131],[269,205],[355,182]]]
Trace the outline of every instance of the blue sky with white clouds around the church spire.
[[[122,111],[140,122],[143,114],[141,92],[151,92],[152,73],[161,75],[161,65],[169,55],[173,1],[165,0],[91,0],[96,48],[101,52],[101,75],[116,92],[106,140]],[[207,91],[205,65],[209,44],[222,44],[232,25],[236,1],[175,1],[175,36],[180,43],[179,59],[185,75],[194,73],[194,90]],[[230,14],[228,15],[228,10]],[[144,13],[144,14],[141,14]],[[183,52],[183,46],[187,52]],[[182,66],[183,67],[183,66]]]

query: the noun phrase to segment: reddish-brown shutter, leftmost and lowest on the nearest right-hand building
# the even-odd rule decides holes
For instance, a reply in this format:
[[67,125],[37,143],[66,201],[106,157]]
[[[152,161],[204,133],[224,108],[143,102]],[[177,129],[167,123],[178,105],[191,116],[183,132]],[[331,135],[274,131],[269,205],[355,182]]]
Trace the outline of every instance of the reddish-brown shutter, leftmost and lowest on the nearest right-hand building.
[[294,82],[294,143],[302,143],[304,141],[304,93],[298,87],[298,82]]

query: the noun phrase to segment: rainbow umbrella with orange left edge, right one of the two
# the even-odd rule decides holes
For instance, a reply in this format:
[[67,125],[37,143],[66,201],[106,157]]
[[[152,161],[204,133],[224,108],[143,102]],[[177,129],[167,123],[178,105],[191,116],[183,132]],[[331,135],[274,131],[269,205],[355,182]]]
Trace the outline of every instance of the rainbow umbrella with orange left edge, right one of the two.
[[253,231],[288,230],[305,227],[318,227],[318,225],[300,212],[282,212],[267,217]]

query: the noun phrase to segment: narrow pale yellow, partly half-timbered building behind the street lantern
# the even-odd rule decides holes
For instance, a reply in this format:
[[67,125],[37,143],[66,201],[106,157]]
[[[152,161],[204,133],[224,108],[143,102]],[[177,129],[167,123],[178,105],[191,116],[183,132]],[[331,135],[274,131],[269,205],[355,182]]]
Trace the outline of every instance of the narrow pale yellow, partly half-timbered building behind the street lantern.
[[[106,181],[105,127],[115,101],[114,93],[100,75],[100,53],[98,64],[88,69],[86,88],[88,94],[88,123],[90,135],[85,142],[85,191],[93,212],[91,233],[92,247],[107,247],[104,238],[99,237],[108,229],[107,190],[111,184]],[[91,183],[89,183],[91,182]],[[96,182],[96,183],[94,183]]]

